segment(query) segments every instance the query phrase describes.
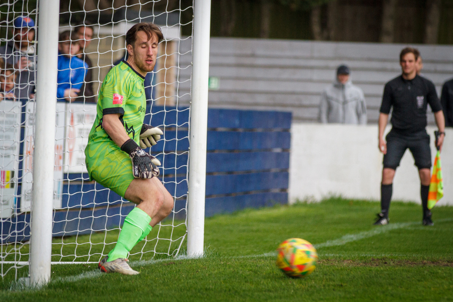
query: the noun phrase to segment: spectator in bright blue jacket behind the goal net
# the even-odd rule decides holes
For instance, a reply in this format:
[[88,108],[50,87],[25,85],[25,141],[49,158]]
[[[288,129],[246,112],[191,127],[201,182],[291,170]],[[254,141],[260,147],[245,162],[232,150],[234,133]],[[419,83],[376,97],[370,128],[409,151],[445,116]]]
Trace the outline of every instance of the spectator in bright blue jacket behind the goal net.
[[64,31],[58,39],[57,100],[74,101],[84,83],[88,64],[75,56],[79,49],[79,34]]

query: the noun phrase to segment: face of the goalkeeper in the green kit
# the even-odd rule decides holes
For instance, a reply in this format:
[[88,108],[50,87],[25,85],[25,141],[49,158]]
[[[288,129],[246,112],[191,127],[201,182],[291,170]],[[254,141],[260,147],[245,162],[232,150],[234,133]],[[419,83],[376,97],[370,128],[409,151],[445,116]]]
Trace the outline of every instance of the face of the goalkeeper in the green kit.
[[136,33],[136,39],[133,47],[129,47],[129,54],[132,50],[132,59],[135,66],[137,66],[140,73],[146,73],[154,70],[156,65],[157,51],[158,51],[158,37],[156,34],[152,34],[151,38],[148,37],[145,32],[138,31]]

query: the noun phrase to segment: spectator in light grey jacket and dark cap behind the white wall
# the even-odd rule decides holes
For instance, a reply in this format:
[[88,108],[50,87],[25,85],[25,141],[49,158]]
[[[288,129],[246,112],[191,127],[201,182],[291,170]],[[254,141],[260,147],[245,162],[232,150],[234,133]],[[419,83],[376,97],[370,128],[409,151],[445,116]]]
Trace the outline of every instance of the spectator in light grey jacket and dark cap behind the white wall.
[[319,105],[321,123],[366,124],[365,97],[352,85],[349,73],[348,66],[339,66],[335,83],[324,89]]

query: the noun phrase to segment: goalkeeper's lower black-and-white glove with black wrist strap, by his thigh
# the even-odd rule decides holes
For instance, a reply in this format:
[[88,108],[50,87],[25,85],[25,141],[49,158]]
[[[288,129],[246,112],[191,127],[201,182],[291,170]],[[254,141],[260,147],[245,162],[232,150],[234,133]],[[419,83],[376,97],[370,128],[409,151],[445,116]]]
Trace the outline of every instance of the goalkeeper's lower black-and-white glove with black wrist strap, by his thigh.
[[140,148],[137,143],[128,139],[121,146],[121,150],[129,154],[132,161],[132,174],[135,178],[153,178],[159,176],[159,169],[157,166],[161,162],[154,156],[150,156]]

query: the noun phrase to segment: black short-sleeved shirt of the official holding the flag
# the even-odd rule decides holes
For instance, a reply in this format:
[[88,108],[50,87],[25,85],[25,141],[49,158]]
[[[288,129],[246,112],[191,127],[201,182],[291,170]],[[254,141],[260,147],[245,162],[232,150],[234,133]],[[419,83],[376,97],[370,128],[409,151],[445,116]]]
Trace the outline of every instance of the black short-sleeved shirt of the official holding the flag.
[[382,97],[381,113],[389,114],[393,107],[393,129],[414,133],[426,128],[426,109],[432,112],[442,110],[434,84],[416,75],[412,80],[404,80],[400,75],[386,84]]

